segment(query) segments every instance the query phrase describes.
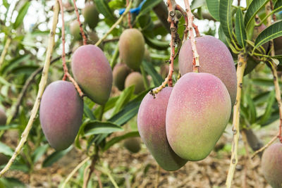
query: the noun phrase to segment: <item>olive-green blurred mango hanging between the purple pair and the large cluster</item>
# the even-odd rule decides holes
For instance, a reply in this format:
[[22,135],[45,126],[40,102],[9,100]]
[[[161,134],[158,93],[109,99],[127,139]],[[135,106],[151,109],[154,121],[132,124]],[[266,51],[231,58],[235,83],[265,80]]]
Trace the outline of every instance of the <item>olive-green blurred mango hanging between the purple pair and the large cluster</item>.
[[139,70],[145,54],[145,39],[142,33],[133,28],[124,30],[118,42],[120,58],[133,70]]

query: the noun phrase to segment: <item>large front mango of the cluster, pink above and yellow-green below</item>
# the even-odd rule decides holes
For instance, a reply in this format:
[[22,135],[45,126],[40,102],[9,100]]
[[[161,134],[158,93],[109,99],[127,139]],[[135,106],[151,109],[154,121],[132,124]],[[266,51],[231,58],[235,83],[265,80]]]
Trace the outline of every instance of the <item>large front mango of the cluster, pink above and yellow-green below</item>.
[[200,161],[214,149],[230,115],[231,99],[218,77],[187,73],[176,82],[168,101],[168,142],[181,158]]

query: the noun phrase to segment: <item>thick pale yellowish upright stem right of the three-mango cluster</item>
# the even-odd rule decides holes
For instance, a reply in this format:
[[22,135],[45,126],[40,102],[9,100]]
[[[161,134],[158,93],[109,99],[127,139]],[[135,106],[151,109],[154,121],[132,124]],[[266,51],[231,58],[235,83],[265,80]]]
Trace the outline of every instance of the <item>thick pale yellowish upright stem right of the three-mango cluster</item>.
[[233,107],[233,141],[231,149],[231,163],[228,170],[228,176],[226,179],[226,187],[230,188],[235,173],[235,168],[238,163],[238,142],[240,137],[240,103],[241,103],[241,92],[243,87],[243,76],[244,70],[247,64],[246,54],[240,53],[238,55],[238,66],[237,66],[237,95],[236,101]]

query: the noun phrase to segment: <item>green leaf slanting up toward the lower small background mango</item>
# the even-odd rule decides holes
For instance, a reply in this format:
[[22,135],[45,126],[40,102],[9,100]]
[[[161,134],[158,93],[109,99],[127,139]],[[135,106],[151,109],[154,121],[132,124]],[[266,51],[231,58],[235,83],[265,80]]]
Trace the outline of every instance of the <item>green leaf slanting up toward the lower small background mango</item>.
[[111,116],[118,113],[118,111],[121,111],[121,108],[123,108],[125,104],[128,103],[131,96],[133,95],[134,89],[135,89],[135,85],[132,85],[128,88],[125,88],[123,92],[121,92],[120,96],[118,97],[118,101],[116,101],[116,105],[114,107],[113,113],[111,113]]

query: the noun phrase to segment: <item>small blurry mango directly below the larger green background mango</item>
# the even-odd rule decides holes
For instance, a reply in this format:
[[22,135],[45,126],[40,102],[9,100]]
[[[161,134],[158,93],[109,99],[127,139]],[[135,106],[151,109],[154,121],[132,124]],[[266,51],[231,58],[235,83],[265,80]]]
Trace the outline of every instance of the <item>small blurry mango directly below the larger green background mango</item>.
[[132,85],[135,85],[134,94],[139,94],[140,92],[145,91],[145,84],[140,73],[133,72],[126,77],[125,87],[130,87]]

